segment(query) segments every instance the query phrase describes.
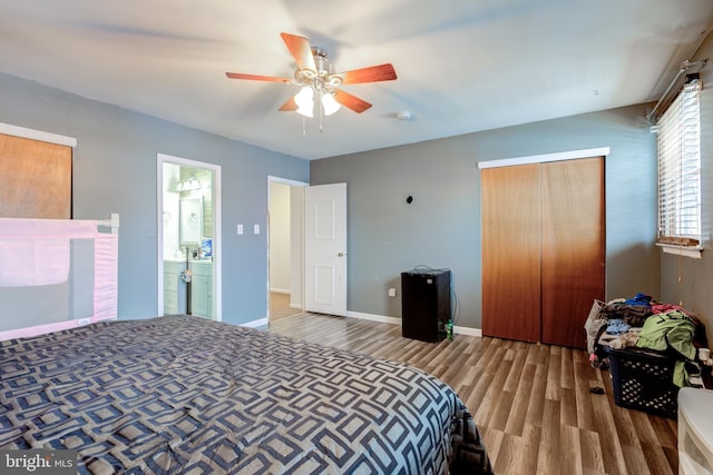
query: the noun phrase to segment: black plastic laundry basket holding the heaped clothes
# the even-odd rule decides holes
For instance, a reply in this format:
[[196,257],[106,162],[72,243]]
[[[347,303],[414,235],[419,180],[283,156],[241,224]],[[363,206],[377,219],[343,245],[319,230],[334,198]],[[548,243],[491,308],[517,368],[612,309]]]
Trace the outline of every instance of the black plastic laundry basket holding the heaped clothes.
[[673,384],[674,358],[643,349],[603,349],[609,356],[617,406],[676,418],[678,386]]

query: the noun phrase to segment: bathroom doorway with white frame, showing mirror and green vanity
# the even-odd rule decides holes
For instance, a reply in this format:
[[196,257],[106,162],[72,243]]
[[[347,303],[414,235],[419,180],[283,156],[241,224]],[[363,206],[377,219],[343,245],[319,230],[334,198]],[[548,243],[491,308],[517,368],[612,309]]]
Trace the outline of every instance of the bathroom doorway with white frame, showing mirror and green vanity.
[[159,154],[158,315],[222,320],[221,167]]

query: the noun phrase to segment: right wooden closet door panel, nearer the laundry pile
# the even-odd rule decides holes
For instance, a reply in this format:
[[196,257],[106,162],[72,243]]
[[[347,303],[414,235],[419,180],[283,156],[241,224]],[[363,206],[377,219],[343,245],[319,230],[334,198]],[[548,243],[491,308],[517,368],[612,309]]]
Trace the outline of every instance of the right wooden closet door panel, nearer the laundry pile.
[[593,299],[604,299],[604,157],[543,164],[541,342],[586,346]]

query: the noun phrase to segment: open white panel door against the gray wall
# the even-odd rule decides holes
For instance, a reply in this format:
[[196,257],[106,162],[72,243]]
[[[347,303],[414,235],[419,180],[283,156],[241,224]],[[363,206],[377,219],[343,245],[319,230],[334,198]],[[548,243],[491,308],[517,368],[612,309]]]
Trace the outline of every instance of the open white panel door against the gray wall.
[[304,309],[346,316],[346,184],[304,191]]

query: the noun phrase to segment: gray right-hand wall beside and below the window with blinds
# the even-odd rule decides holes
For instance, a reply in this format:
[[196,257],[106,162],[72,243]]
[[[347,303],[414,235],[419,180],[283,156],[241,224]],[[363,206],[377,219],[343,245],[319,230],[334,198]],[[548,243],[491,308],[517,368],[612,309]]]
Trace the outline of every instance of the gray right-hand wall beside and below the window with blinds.
[[[713,37],[709,36],[693,58],[713,58]],[[701,259],[662,254],[661,288],[665,301],[681,304],[695,314],[706,327],[713,344],[713,66],[701,71],[701,218],[703,251]],[[681,278],[681,280],[678,280]]]

